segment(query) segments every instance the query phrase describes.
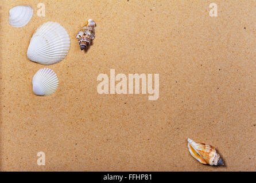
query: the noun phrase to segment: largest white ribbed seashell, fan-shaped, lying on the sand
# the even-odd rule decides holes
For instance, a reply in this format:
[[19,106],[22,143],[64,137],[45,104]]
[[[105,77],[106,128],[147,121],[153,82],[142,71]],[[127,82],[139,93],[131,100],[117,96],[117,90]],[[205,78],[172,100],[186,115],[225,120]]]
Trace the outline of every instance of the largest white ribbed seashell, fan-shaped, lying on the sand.
[[69,47],[70,39],[64,27],[57,22],[46,22],[30,39],[27,55],[30,61],[51,65],[62,61]]

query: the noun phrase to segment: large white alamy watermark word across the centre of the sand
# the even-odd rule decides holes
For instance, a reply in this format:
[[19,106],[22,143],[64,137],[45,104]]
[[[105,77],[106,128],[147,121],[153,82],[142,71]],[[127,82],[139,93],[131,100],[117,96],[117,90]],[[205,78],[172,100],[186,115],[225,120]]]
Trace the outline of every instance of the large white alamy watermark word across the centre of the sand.
[[[97,86],[99,94],[140,94],[141,88],[141,94],[148,93],[149,100],[157,100],[159,97],[159,74],[154,74],[154,89],[153,74],[128,74],[127,79],[125,74],[115,75],[115,69],[110,69],[110,78],[102,73],[98,75],[97,81],[101,81]],[[116,81],[119,82],[115,84]]]

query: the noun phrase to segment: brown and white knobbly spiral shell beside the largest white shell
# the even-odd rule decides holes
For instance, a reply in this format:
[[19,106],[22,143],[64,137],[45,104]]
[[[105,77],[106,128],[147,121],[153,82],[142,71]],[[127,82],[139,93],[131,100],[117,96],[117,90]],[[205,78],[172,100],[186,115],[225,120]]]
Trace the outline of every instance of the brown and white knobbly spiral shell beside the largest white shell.
[[96,23],[92,19],[88,19],[86,26],[76,35],[81,50],[92,44],[92,40],[95,38],[94,27],[96,27]]

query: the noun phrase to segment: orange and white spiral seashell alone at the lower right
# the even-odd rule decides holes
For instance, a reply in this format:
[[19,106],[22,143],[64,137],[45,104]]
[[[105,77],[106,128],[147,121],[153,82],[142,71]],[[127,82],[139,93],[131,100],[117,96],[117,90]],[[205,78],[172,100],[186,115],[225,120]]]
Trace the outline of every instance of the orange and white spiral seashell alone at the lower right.
[[197,143],[188,138],[188,149],[191,155],[201,164],[224,165],[222,158],[211,145]]

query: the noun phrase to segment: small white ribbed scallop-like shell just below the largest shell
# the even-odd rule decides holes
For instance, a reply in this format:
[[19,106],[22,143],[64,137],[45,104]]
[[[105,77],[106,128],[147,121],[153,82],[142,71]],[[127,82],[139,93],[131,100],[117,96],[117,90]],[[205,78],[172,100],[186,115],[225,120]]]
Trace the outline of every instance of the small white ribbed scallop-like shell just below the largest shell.
[[49,96],[57,90],[59,80],[52,69],[44,68],[34,74],[32,85],[37,96]]

